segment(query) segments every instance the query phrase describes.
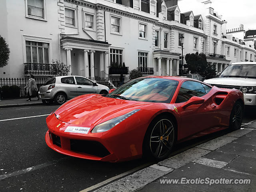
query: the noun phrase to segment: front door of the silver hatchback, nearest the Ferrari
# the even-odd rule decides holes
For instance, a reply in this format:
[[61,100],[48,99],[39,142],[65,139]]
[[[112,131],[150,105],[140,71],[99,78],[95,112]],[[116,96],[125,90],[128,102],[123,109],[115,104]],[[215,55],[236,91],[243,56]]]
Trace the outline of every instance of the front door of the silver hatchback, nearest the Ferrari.
[[98,86],[93,86],[93,82],[84,77],[76,76],[77,95],[98,93]]

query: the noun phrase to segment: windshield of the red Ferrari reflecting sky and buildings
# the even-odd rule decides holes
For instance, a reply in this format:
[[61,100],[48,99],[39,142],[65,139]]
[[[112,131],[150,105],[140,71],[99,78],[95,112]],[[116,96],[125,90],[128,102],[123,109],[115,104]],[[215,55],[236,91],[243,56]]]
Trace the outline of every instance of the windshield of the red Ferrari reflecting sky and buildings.
[[163,78],[139,78],[130,80],[108,97],[144,102],[170,103],[178,81]]

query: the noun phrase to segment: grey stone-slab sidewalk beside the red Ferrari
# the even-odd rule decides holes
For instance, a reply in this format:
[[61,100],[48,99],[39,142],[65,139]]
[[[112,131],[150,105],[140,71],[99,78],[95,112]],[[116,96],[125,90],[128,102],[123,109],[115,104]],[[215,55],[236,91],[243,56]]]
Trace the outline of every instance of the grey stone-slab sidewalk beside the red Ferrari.
[[[198,183],[206,178],[209,178],[209,183],[213,181],[215,183],[211,185]],[[167,182],[166,179],[178,179],[180,183],[160,183],[160,180]],[[230,184],[226,184],[226,179]],[[250,179],[250,184],[232,183],[236,179],[238,182]],[[246,180],[245,182],[248,182]],[[222,184],[223,182],[224,184]],[[255,192],[256,122],[188,149],[96,190],[96,192],[133,191]]]

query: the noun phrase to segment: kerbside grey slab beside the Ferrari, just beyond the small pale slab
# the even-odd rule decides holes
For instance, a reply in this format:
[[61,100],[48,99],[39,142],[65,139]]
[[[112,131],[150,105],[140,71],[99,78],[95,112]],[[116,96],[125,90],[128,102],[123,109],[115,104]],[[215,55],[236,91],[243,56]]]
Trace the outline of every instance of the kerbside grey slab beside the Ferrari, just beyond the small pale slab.
[[213,151],[213,150],[216,150],[216,149],[218,149],[236,139],[237,139],[236,137],[221,136],[216,139],[210,140],[206,143],[200,144],[196,147]]

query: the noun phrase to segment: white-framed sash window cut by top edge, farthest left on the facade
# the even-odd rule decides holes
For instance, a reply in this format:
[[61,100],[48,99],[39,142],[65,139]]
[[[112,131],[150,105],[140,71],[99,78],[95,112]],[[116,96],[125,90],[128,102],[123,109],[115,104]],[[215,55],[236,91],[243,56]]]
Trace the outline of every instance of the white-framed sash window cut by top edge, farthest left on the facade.
[[26,0],[28,16],[45,17],[44,0]]

